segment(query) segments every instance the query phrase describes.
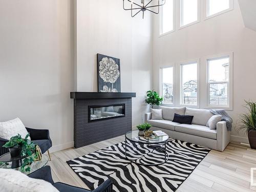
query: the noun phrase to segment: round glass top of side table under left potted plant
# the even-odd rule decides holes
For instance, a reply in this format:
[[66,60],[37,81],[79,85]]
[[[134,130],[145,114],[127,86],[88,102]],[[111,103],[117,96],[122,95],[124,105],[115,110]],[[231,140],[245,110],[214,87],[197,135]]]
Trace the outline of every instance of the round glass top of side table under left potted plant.
[[[39,161],[34,161],[33,163],[31,163],[30,165],[30,172],[23,172],[24,174],[28,175],[31,174],[33,172],[35,172],[36,170],[38,170],[39,168],[45,166],[48,163],[48,156],[42,154],[42,159]],[[8,168],[11,169],[12,166],[12,162],[7,162],[7,163],[3,163],[2,165],[0,165],[0,168]],[[19,170],[20,171],[20,167],[17,168],[13,168],[14,170]]]

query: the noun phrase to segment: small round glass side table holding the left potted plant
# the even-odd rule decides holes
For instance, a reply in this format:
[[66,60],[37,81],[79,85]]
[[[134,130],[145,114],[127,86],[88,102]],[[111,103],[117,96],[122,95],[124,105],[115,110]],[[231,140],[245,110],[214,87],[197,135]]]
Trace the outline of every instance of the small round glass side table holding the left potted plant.
[[[26,158],[26,157],[23,157],[23,158]],[[23,159],[21,159],[21,160],[23,161]],[[45,166],[48,163],[48,160],[49,160],[48,156],[42,154],[41,160],[34,161],[33,163],[31,163],[30,172],[23,172],[23,173],[28,175],[28,174],[31,174],[31,173],[35,172],[36,170]],[[17,168],[13,168],[13,163],[15,163],[15,161],[13,161],[13,158],[11,158],[10,153],[6,153],[6,154],[2,155],[0,157],[0,161],[3,162],[3,164],[0,165],[0,168],[8,168],[8,169],[14,169],[14,170],[19,170],[20,171],[20,166],[17,167]],[[14,167],[16,167],[16,165]]]

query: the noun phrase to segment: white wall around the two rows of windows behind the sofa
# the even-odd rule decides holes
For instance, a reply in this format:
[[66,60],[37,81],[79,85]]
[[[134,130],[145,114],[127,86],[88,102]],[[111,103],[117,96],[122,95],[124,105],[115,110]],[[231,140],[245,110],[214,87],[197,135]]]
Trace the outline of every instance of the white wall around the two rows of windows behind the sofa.
[[[201,3],[203,5],[204,1]],[[176,7],[179,7],[178,0]],[[177,16],[178,13],[176,24],[179,24]],[[154,17],[153,88],[159,91],[160,67],[167,67],[183,60],[233,52],[233,111],[228,113],[233,118],[235,126],[238,115],[245,112],[242,107],[244,99],[256,101],[256,89],[254,89],[256,33],[244,27],[237,0],[234,0],[232,11],[207,20],[202,16],[201,22],[161,37],[159,37],[159,17]],[[201,62],[201,65],[206,63]],[[206,96],[206,93],[201,93],[201,97],[203,96]],[[247,136],[238,135],[234,127],[231,135],[232,140],[247,141]]]

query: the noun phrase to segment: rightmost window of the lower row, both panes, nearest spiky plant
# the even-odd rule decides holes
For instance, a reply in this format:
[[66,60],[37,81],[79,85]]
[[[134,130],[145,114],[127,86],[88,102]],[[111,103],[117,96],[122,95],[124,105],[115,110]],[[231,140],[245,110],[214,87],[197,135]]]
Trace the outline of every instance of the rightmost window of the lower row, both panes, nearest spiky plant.
[[208,105],[229,106],[229,56],[208,59]]

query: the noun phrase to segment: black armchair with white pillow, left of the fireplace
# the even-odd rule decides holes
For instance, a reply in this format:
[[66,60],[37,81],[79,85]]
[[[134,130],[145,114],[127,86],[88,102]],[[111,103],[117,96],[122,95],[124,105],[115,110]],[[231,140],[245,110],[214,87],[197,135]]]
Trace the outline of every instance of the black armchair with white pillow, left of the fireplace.
[[[29,132],[31,141],[33,141],[35,144],[38,144],[42,154],[48,152],[49,158],[51,160],[49,148],[52,146],[52,140],[50,138],[49,130],[37,130],[28,127],[26,127],[26,129]],[[7,139],[0,137],[0,156],[9,152],[8,148],[3,147],[6,142],[8,142]]]

